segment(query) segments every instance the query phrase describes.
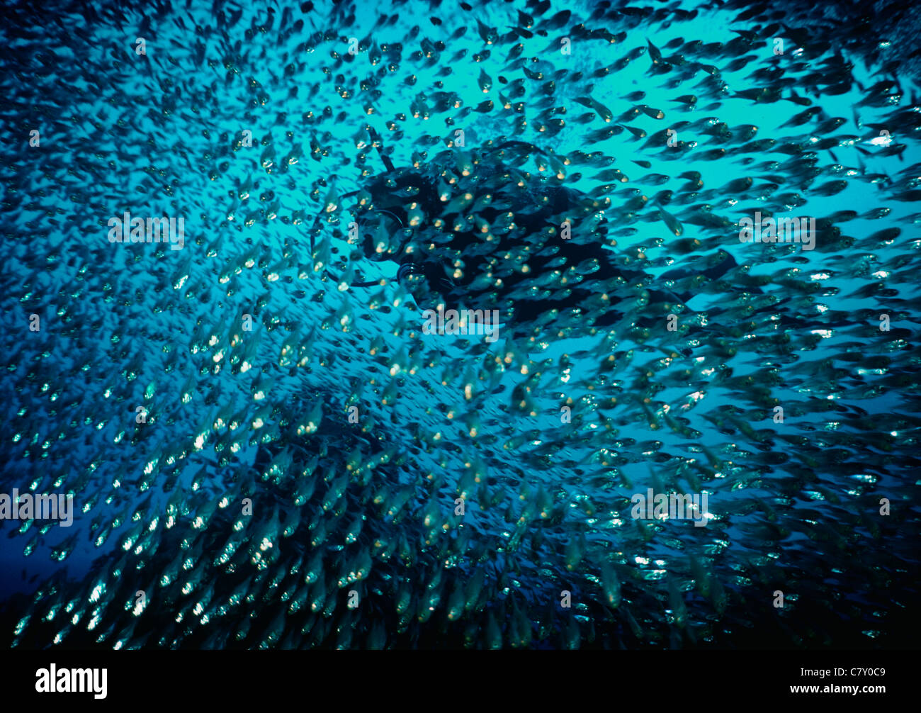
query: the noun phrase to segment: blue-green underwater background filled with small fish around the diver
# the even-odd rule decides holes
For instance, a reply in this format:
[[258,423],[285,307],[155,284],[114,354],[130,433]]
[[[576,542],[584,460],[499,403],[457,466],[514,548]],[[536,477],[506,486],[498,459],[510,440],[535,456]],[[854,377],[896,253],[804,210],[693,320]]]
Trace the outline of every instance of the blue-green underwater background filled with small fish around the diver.
[[[915,645],[913,6],[3,12],[0,493],[74,506],[0,520],[5,648]],[[419,245],[495,259],[495,342],[424,333],[391,224],[351,240],[388,161],[445,181]],[[524,269],[556,185],[646,279]]]

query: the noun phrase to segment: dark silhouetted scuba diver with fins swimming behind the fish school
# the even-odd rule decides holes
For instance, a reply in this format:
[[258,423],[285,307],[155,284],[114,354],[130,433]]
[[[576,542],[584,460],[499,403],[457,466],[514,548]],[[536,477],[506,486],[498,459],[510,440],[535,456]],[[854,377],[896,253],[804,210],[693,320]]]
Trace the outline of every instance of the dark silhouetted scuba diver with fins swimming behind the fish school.
[[[344,197],[356,196],[364,257],[394,263],[421,310],[498,310],[515,333],[530,336],[563,314],[569,325],[605,327],[635,312],[636,286],[653,277],[606,247],[614,244],[604,215],[610,199],[514,168],[545,156],[541,149],[487,142],[395,169],[369,131],[387,170]],[[735,266],[728,256],[701,274],[717,279]],[[676,270],[659,281],[694,275]],[[666,310],[693,297],[645,288],[648,302]],[[635,315],[638,324],[648,319]]]

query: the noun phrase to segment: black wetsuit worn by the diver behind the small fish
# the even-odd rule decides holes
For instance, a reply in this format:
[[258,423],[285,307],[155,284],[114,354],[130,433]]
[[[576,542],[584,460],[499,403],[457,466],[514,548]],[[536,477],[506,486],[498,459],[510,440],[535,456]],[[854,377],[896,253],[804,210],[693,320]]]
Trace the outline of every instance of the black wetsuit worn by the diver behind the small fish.
[[[400,240],[391,242],[390,251],[376,250],[372,231],[363,233],[362,242],[368,259],[399,264],[401,282],[414,294],[419,308],[435,309],[440,301],[446,309],[461,305],[468,309],[498,309],[517,328],[545,318],[552,310],[576,310],[581,311],[577,318],[587,325],[606,326],[623,319],[624,310],[633,309],[635,300],[622,309],[618,304],[627,294],[635,295],[637,283],[647,285],[650,302],[679,304],[692,297],[650,286],[650,275],[624,265],[617,253],[604,247],[607,221],[600,211],[607,202],[539,176],[531,176],[521,187],[517,182],[520,174],[513,177],[506,164],[490,158],[485,154],[472,174],[458,181],[459,185],[446,184],[446,176],[457,179],[459,174],[454,169],[446,171],[437,162],[423,169],[394,169],[367,184],[372,197],[369,217],[375,212],[388,216],[391,228],[399,229],[401,225],[409,226],[412,216],[422,216],[412,231],[404,230]],[[439,197],[439,185],[442,190],[446,185],[452,189],[448,201]],[[484,193],[501,196],[491,205],[480,205],[476,216],[490,226],[513,220],[518,229],[497,231],[489,244],[484,244],[473,227],[455,231],[453,222],[460,212],[449,212],[448,208],[465,191],[474,200]],[[509,218],[509,214],[513,217]],[[571,218],[568,240],[561,235],[560,216]],[[438,218],[442,221],[439,227],[435,225]],[[408,252],[407,245],[412,245],[413,251]],[[529,246],[527,271],[499,264],[516,251],[520,257],[523,245]],[[458,258],[462,262],[460,270],[455,265]],[[735,262],[730,257],[705,275],[716,278],[733,266]],[[578,268],[577,273],[570,268]],[[556,270],[566,272],[565,284],[548,277]],[[490,274],[500,276],[501,283],[484,280],[483,275]],[[692,275],[672,271],[665,279]],[[539,288],[531,293],[530,286]],[[602,295],[608,299],[600,302]]]

